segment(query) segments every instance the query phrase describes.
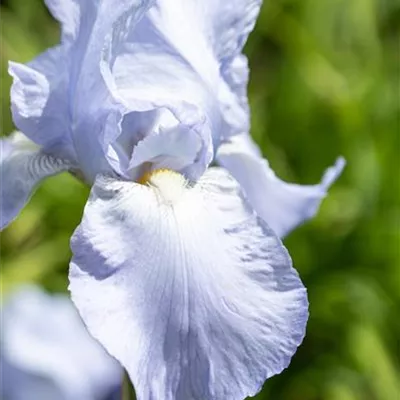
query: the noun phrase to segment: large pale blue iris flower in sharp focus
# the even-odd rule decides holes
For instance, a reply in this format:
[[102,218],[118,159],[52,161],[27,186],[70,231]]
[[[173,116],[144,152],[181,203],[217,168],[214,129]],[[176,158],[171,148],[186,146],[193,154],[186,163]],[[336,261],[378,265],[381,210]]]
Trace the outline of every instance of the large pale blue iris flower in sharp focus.
[[288,184],[251,141],[242,48],[260,3],[47,0],[61,44],[10,63],[15,124],[40,149],[7,144],[2,226],[45,176],[93,186],[70,291],[139,400],[244,399],[305,334],[279,237],[315,215],[344,162]]

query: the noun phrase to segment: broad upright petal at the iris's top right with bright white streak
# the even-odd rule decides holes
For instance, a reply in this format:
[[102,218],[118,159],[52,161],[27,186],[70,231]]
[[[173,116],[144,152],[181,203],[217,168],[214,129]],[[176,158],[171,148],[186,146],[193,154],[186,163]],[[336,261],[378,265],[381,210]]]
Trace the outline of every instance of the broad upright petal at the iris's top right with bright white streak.
[[122,15],[102,63],[115,100],[129,112],[165,108],[186,126],[206,119],[205,143],[210,132],[217,145],[221,136],[248,130],[247,62],[240,52],[260,4],[158,0],[139,23]]

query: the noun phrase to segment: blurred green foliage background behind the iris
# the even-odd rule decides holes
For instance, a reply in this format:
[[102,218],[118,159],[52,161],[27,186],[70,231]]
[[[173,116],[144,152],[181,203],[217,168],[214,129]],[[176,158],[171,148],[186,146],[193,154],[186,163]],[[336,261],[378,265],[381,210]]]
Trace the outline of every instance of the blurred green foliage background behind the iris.
[[[7,61],[58,40],[42,3],[0,6],[2,134],[13,130]],[[336,156],[348,162],[318,217],[285,240],[311,317],[257,399],[400,399],[400,2],[269,0],[246,53],[252,134],[277,174],[316,183]],[[48,179],[1,233],[3,296],[27,281],[66,291],[87,195],[67,174]]]

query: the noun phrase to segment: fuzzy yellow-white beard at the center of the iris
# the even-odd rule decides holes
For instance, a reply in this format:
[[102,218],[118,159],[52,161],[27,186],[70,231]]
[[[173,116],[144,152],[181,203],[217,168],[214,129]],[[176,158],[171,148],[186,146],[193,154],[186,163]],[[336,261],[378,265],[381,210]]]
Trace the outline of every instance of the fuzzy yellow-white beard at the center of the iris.
[[162,168],[146,172],[138,183],[157,189],[161,198],[167,204],[173,205],[182,197],[188,181],[179,172]]

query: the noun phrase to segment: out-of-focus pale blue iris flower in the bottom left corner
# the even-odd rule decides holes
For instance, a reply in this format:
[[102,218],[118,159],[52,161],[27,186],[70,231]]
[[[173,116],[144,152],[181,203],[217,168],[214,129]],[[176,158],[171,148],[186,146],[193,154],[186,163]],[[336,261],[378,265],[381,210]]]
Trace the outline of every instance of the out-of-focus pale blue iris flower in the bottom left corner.
[[1,308],[3,400],[111,400],[122,370],[87,332],[72,302],[35,286]]

